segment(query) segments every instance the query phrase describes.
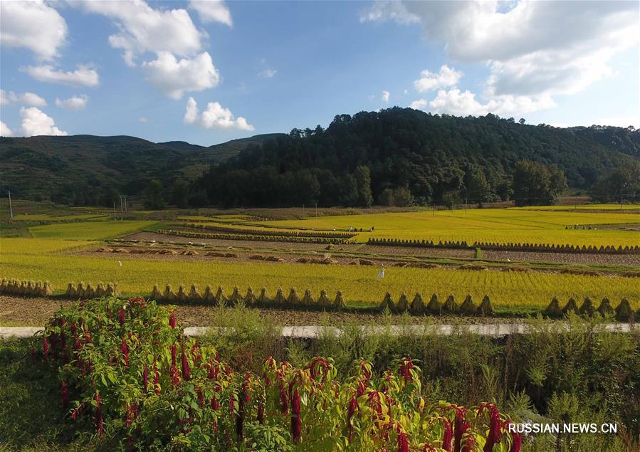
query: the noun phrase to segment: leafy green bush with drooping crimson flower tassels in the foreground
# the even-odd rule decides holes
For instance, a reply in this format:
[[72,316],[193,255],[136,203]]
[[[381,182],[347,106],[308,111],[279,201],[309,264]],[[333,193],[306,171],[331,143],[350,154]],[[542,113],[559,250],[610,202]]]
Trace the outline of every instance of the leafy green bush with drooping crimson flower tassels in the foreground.
[[[374,377],[357,361],[342,382],[330,359],[303,367],[268,357],[261,375],[234,372],[182,336],[142,298],[56,312],[43,355],[57,365],[61,405],[79,429],[120,446],[253,450],[519,451],[493,404],[425,404],[409,358]],[[498,446],[499,445],[499,446]]]

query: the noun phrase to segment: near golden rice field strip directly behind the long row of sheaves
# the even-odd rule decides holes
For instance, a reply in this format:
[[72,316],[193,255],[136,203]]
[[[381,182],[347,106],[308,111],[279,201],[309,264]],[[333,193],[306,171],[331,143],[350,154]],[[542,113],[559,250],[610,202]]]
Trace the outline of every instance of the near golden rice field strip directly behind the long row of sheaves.
[[[16,249],[16,241],[42,239],[3,238],[2,247]],[[40,243],[38,243],[40,242]],[[33,249],[33,248],[30,248]],[[51,251],[51,248],[48,248]],[[122,266],[118,263],[120,261]],[[502,271],[446,270],[442,268],[388,268],[385,278],[376,278],[378,268],[322,266],[287,263],[182,262],[137,259],[118,255],[109,258],[50,253],[1,253],[0,275],[6,278],[49,280],[54,290],[64,290],[70,281],[118,283],[124,295],[145,295],[154,284],[221,285],[231,292],[234,285],[243,290],[248,285],[266,287],[273,295],[278,286],[310,288],[316,295],[321,289],[330,293],[342,290],[351,305],[377,305],[389,291],[398,297],[402,291],[423,295],[450,293],[463,300],[469,293],[474,299],[488,294],[495,308],[513,310],[544,308],[552,297],[582,300],[605,296],[616,303],[626,297],[634,308],[640,306],[640,280],[621,276],[584,276],[552,273],[514,273]]]

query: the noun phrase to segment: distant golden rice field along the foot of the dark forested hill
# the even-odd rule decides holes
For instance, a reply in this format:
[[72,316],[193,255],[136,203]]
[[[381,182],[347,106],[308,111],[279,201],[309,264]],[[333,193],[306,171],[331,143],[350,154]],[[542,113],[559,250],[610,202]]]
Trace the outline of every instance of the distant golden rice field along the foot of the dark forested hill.
[[[268,227],[345,230],[362,228],[352,240],[400,238],[432,241],[495,243],[549,243],[556,245],[637,246],[640,233],[617,229],[567,229],[565,226],[600,224],[640,225],[639,214],[534,211],[524,209],[473,209],[463,211],[397,212],[324,216],[300,220],[264,221]],[[373,232],[368,232],[374,227]]]

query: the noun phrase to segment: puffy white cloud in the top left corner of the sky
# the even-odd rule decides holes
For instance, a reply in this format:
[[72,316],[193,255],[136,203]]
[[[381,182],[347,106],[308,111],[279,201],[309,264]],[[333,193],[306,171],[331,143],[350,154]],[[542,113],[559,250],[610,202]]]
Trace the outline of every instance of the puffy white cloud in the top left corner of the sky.
[[67,23],[43,1],[0,1],[0,43],[26,47],[38,58],[51,60],[67,36]]

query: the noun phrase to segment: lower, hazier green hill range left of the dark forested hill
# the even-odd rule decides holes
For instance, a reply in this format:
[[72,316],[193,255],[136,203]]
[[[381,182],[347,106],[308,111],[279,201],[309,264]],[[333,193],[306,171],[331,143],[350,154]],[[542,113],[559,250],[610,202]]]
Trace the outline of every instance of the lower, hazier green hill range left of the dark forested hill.
[[109,206],[118,194],[142,194],[152,179],[170,190],[179,180],[198,177],[211,162],[278,135],[256,135],[210,147],[127,136],[1,137],[1,196],[11,190],[17,198]]

